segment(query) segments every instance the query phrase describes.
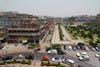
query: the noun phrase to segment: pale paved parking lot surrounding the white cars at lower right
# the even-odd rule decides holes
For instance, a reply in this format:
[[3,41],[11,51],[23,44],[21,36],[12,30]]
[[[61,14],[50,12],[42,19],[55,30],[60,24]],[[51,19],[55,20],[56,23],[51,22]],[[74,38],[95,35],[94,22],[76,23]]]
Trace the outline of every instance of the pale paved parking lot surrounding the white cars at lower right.
[[[67,46],[68,47],[68,46]],[[63,49],[63,47],[62,47]],[[63,49],[64,50],[64,49]],[[100,67],[100,61],[99,61],[99,58],[96,58],[95,57],[95,54],[99,54],[100,51],[92,51],[92,50],[73,50],[73,49],[67,49],[67,50],[64,50],[64,52],[66,52],[67,55],[69,56],[72,56],[74,58],[77,59],[77,62],[86,62],[86,63],[89,63],[91,65],[93,65],[94,67]],[[82,53],[82,52],[86,52],[89,56],[89,61],[80,61],[79,58],[76,56],[77,53]]]

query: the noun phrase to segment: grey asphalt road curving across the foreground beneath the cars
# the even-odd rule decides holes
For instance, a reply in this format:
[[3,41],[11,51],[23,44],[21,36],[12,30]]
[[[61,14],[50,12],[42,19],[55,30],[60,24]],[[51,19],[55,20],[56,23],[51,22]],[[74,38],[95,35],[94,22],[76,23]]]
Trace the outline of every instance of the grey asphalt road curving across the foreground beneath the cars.
[[[40,60],[40,57],[42,56],[49,56],[50,59],[53,58],[53,57],[63,57],[62,55],[56,55],[56,54],[48,54],[48,53],[35,53],[33,54],[32,52],[21,52],[21,53],[12,53],[12,54],[5,54],[4,56],[18,56],[18,55],[34,55],[35,58],[34,60]],[[79,61],[77,58],[75,57],[72,57],[72,56],[66,56],[67,58],[70,58],[70,59],[73,59],[75,61],[75,67],[77,67],[77,65],[83,65],[84,67],[94,67],[92,66],[91,64],[87,63],[87,62],[83,62],[83,61]]]

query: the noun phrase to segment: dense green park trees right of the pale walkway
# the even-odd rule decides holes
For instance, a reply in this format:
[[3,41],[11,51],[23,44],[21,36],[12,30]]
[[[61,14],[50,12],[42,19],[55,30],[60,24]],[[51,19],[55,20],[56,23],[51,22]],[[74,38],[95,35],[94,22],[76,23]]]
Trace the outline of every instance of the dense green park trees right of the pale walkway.
[[[78,36],[89,38],[89,43],[92,44],[100,43],[100,23],[98,22],[85,23],[84,25],[80,26],[66,26],[66,28],[71,34],[73,34],[74,37]],[[95,40],[94,34],[97,35],[97,40]]]

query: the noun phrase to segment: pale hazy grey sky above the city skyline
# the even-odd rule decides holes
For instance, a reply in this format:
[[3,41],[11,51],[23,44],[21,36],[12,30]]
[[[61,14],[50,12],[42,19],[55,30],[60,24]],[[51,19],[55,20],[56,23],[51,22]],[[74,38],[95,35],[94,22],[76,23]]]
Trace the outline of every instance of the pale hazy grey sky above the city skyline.
[[96,15],[100,13],[100,0],[0,0],[0,11],[62,17]]

